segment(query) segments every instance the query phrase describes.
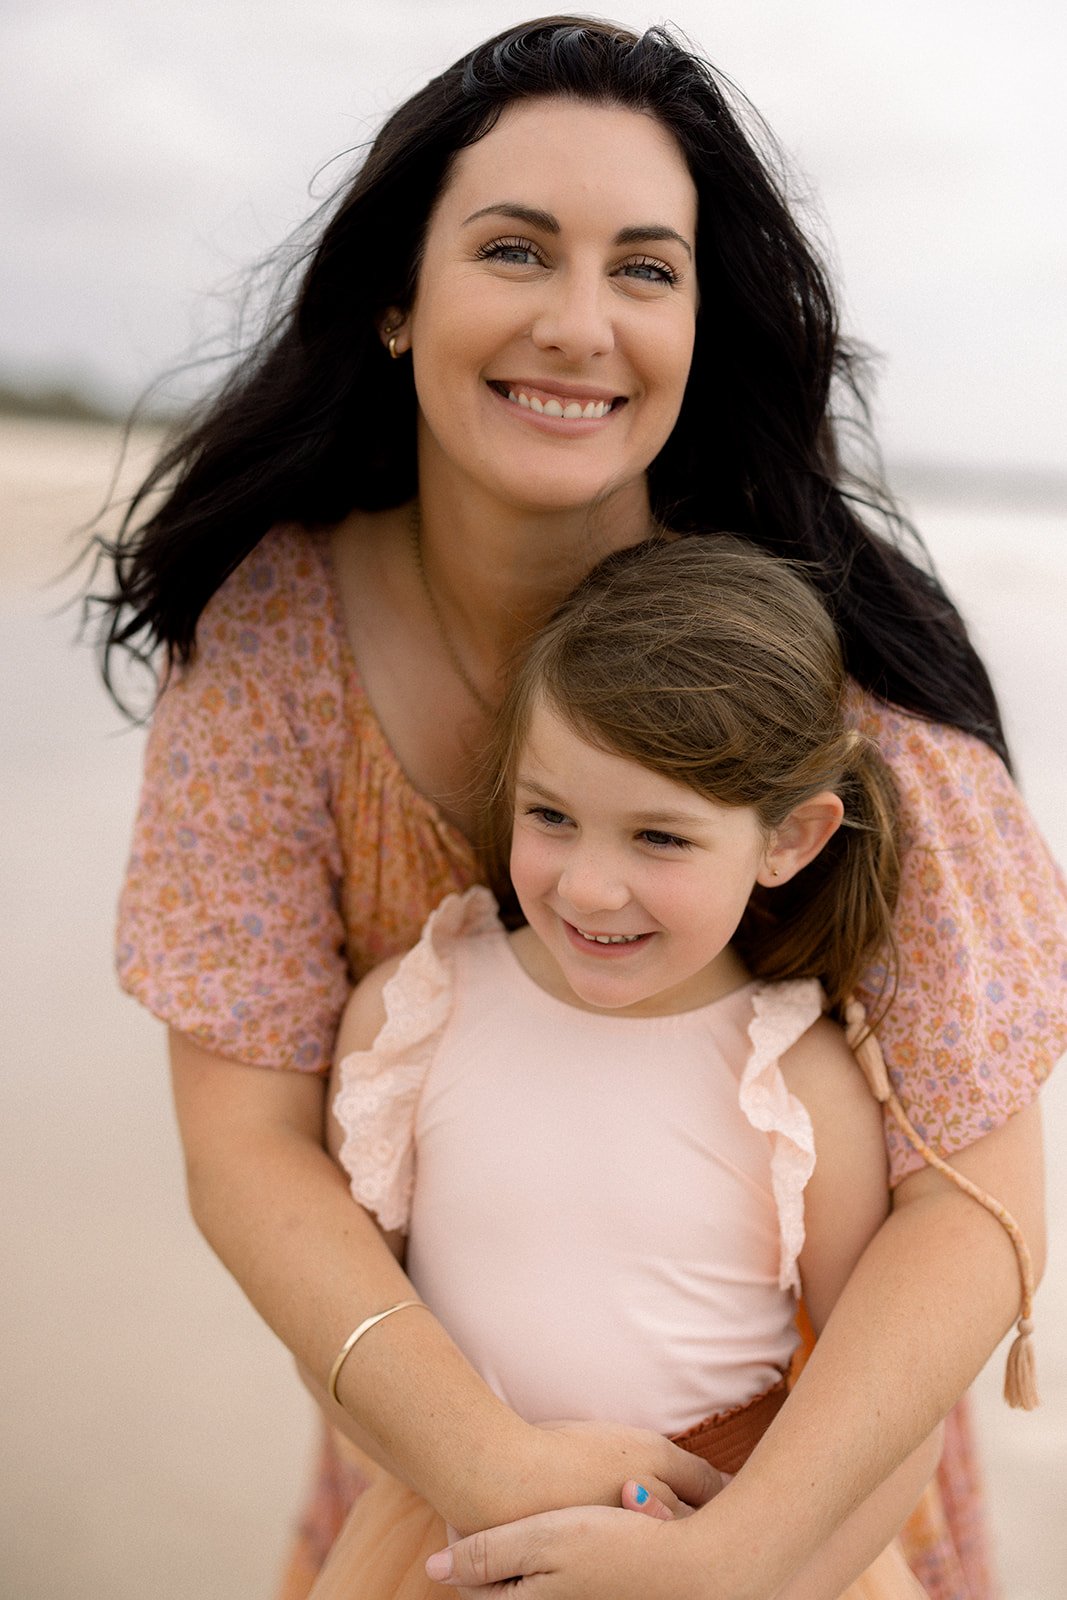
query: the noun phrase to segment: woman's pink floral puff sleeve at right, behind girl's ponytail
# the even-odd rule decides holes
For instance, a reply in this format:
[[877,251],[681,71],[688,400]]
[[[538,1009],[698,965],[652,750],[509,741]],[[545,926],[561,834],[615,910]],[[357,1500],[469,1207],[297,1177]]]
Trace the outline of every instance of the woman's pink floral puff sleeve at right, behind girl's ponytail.
[[[1001,760],[953,728],[857,696],[901,794],[901,976],[878,1037],[942,1155],[1027,1106],[1067,1048],[1067,894]],[[861,998],[881,987],[873,970]],[[891,1181],[921,1165],[886,1123]]]

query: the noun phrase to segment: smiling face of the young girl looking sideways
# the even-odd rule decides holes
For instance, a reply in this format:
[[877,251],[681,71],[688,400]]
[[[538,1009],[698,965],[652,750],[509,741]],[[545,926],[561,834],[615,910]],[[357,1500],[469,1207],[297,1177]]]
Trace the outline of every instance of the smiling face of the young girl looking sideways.
[[633,1016],[689,1011],[736,987],[726,946],[771,843],[726,806],[587,744],[547,706],[515,782],[512,882],[550,987]]

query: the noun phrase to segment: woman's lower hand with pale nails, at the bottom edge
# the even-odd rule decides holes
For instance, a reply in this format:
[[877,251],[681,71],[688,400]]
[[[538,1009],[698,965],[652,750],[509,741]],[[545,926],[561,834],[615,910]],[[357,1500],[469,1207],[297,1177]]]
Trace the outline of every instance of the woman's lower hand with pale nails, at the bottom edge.
[[517,1589],[536,1600],[678,1600],[693,1594],[712,1600],[715,1594],[707,1562],[697,1560],[683,1522],[605,1506],[488,1528],[438,1550],[426,1571],[470,1600]]

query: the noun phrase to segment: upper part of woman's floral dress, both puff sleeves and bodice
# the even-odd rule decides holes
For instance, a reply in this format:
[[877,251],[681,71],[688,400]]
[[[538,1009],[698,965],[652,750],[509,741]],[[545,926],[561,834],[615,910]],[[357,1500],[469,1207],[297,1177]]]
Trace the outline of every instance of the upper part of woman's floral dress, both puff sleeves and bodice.
[[[984,744],[859,691],[854,717],[902,798],[902,979],[880,1037],[912,1118],[950,1154],[1029,1104],[1067,1046],[1067,896]],[[120,902],[123,986],[211,1050],[323,1072],[350,982],[477,878],[366,701],[325,539],[275,530],[160,698]],[[888,1139],[896,1181],[918,1158]]]

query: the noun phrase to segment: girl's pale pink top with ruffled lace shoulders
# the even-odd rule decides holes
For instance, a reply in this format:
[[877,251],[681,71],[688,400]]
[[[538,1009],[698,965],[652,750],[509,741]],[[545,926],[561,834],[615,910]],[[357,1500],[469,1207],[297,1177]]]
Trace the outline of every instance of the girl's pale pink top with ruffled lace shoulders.
[[774,1382],[816,1158],[779,1059],[821,1014],[816,982],[581,1011],[533,982],[474,888],[384,1003],[373,1048],[338,1067],[341,1162],[510,1406],[678,1432]]

